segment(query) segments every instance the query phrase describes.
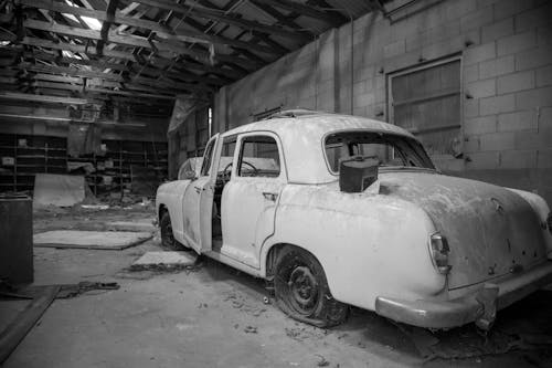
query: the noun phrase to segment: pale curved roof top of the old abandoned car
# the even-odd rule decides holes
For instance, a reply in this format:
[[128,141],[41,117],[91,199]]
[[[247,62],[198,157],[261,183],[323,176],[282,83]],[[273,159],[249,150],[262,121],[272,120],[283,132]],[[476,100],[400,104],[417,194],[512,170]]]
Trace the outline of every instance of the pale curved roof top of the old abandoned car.
[[322,137],[331,132],[367,129],[391,133],[414,138],[407,130],[392,124],[360,116],[331,114],[306,109],[291,109],[276,113],[268,118],[230,129],[223,136],[251,132],[272,132],[278,136],[293,132],[297,139],[305,134]]

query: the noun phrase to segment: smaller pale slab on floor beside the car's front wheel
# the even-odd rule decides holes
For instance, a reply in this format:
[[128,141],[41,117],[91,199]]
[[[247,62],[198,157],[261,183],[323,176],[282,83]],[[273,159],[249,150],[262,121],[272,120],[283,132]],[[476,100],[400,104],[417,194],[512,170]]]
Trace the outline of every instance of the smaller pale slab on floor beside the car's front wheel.
[[178,271],[194,267],[193,252],[147,252],[130,265],[130,271]]

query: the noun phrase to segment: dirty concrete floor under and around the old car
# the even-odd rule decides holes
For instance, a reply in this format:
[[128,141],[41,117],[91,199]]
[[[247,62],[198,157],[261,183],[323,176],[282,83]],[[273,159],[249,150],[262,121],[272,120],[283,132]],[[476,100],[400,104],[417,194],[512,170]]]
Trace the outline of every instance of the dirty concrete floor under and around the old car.
[[[55,215],[54,215],[55,214]],[[36,213],[34,230],[100,230],[150,210]],[[153,239],[124,251],[35,249],[35,285],[118,282],[56,299],[4,367],[551,367],[552,292],[499,313],[487,337],[465,326],[446,333],[393,324],[353,309],[323,330],[286,317],[264,283],[214,261],[193,271],[130,272]],[[0,303],[0,327],[24,302]]]

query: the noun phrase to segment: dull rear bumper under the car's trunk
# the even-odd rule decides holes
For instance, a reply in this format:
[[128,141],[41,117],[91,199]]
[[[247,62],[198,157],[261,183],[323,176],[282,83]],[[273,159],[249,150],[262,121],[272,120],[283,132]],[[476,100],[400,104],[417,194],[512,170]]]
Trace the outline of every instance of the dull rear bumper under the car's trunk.
[[486,283],[475,293],[452,301],[404,301],[379,296],[375,313],[390,319],[425,328],[452,328],[471,322],[490,328],[496,311],[552,283],[552,262],[498,283]]

